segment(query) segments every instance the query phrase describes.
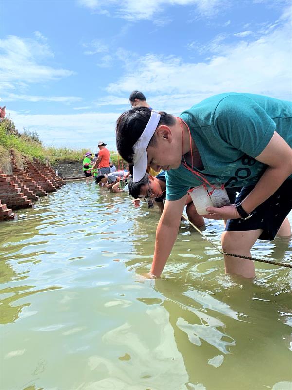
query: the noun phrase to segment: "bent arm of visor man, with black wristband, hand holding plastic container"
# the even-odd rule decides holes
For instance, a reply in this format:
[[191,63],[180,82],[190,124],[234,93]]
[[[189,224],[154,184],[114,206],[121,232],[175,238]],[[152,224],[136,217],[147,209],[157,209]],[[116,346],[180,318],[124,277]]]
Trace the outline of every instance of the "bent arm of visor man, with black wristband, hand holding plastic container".
[[[253,191],[241,203],[247,213],[251,213],[273,195],[287,177],[292,174],[292,149],[277,132],[274,132],[270,142],[262,153],[256,157],[256,160],[266,164],[267,169]],[[207,210],[209,213],[215,213],[203,215],[209,219],[240,218],[234,205],[220,208],[208,207]]]

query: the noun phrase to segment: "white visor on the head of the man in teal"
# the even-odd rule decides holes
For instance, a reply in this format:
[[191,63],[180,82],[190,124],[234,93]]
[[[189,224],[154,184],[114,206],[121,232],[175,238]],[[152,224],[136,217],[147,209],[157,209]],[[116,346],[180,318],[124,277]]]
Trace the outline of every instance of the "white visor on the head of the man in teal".
[[151,110],[151,116],[149,122],[146,124],[146,127],[141,134],[138,141],[133,146],[134,156],[133,156],[133,182],[136,183],[140,181],[143,176],[146,174],[146,169],[148,165],[148,156],[147,156],[147,147],[149,145],[150,139],[153,137],[157,125],[160,120],[160,114],[157,111]]

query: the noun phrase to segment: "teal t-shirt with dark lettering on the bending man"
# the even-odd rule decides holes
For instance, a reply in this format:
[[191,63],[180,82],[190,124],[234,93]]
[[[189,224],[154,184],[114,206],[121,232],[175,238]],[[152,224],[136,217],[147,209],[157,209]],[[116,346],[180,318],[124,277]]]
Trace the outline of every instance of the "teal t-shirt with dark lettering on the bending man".
[[[203,174],[216,187],[256,184],[266,165],[255,157],[277,131],[292,146],[292,103],[254,94],[226,93],[207,98],[184,111],[204,166]],[[181,199],[190,187],[202,184],[182,164],[166,173],[166,199]]]

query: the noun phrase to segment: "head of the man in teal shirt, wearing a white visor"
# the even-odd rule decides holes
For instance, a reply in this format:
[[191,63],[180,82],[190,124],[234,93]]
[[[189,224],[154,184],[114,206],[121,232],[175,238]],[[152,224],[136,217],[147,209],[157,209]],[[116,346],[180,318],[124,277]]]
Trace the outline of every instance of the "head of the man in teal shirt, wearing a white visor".
[[133,181],[139,181],[147,165],[155,171],[178,168],[182,158],[181,128],[165,112],[133,107],[116,124],[116,145],[120,156],[131,164]]

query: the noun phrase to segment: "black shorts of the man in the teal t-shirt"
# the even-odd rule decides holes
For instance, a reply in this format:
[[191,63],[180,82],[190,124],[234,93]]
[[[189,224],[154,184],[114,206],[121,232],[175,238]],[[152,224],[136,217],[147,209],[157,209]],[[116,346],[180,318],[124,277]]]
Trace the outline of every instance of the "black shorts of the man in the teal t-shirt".
[[[255,186],[243,187],[237,197],[242,201]],[[292,209],[292,180],[287,179],[265,202],[254,211],[253,216],[243,219],[231,219],[227,222],[225,231],[244,231],[262,229],[261,240],[274,240],[284,219]]]

